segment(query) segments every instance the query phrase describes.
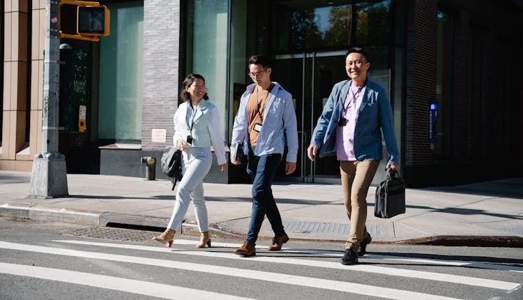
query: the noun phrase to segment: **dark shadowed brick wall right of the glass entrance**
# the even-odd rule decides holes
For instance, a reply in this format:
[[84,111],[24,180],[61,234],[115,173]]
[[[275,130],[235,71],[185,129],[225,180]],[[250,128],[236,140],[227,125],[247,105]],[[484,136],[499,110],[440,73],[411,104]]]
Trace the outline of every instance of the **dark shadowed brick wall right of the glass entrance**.
[[[523,72],[517,67],[523,61],[523,6],[513,1],[478,6],[471,0],[416,0],[409,5],[403,153],[409,186],[522,174],[513,161],[523,161],[522,144],[516,140],[523,130]],[[453,17],[453,50],[444,55],[452,60],[446,107],[451,124],[446,134],[452,140],[444,160],[437,160],[427,141],[428,103],[436,96],[439,9]]]

